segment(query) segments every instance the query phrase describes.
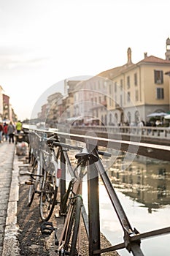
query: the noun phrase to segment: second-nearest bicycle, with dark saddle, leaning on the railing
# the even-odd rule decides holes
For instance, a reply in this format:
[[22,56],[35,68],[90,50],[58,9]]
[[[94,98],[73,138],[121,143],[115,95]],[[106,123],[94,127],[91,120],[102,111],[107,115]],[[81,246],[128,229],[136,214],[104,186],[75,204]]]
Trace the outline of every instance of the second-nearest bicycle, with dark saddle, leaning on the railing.
[[[61,145],[58,136],[53,135],[46,140],[48,150],[43,150],[43,178],[42,187],[39,199],[39,213],[44,222],[47,222],[53,214],[55,205],[60,203],[58,195],[61,187]],[[76,146],[69,146],[69,148],[77,149]],[[78,147],[80,149],[80,147]]]

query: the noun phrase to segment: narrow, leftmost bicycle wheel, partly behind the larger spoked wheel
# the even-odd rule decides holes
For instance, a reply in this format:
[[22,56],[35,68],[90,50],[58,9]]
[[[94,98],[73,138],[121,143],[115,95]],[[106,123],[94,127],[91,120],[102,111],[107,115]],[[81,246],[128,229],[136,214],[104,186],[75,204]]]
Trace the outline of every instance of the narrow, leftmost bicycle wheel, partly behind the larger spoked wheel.
[[39,182],[39,162],[34,159],[28,191],[28,206],[31,206]]

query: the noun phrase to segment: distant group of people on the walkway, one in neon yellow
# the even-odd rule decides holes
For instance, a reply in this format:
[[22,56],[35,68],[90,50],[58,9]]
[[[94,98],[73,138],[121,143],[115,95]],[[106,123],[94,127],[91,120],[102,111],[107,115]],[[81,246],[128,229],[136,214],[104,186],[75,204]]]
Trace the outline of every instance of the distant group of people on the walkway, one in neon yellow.
[[12,121],[7,124],[7,122],[0,123],[0,143],[3,141],[9,141],[9,143],[14,143],[14,136],[22,131],[22,123],[20,120],[16,124]]

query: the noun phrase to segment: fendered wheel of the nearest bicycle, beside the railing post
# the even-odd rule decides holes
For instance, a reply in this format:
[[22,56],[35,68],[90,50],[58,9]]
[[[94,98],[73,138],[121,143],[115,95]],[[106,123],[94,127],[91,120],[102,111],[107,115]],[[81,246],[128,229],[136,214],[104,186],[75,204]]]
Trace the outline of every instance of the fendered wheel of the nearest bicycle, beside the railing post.
[[80,216],[82,208],[82,197],[79,195],[74,198],[69,207],[72,207],[72,211],[69,218],[68,225],[65,226],[63,235],[62,248],[58,251],[59,255],[78,256],[77,250],[77,236],[80,227]]

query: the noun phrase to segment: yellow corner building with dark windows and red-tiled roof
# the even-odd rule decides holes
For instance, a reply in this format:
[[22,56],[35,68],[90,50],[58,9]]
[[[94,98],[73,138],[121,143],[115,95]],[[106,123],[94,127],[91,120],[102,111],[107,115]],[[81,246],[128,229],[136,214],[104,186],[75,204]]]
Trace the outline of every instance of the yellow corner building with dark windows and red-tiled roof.
[[107,123],[137,123],[147,121],[152,112],[169,111],[170,69],[169,39],[166,40],[166,59],[147,56],[136,64],[128,61],[125,65],[101,72],[98,76],[107,81]]

